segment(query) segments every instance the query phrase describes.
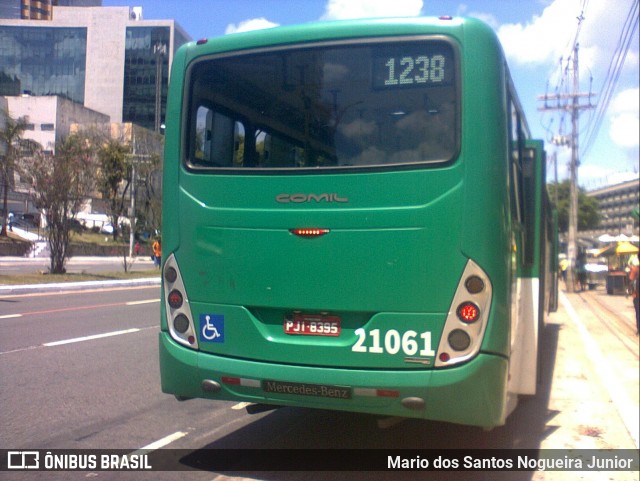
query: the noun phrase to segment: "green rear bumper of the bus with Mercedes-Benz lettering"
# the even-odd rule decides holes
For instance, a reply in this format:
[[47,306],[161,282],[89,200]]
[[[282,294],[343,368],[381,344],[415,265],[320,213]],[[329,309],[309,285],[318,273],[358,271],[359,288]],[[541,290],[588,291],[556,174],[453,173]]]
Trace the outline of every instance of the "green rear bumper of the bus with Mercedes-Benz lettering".
[[[501,425],[505,420],[508,363],[491,354],[481,353],[455,368],[387,371],[232,359],[180,346],[164,331],[160,332],[159,344],[162,390],[180,397],[365,412],[483,427]],[[224,382],[223,377],[243,382]],[[351,398],[266,392],[262,388],[266,380],[296,383],[297,388],[346,386]],[[203,381],[208,382],[204,389]],[[214,392],[212,384],[220,389]]]

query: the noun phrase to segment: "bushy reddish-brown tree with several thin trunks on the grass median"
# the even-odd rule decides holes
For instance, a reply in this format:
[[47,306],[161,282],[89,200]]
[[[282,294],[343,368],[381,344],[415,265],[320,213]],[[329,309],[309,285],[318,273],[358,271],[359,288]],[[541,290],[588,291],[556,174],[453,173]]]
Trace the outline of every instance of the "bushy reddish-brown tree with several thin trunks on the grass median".
[[47,221],[49,270],[52,274],[62,274],[71,220],[95,186],[92,143],[86,136],[71,134],[56,144],[53,156],[39,152],[23,162],[30,195]]

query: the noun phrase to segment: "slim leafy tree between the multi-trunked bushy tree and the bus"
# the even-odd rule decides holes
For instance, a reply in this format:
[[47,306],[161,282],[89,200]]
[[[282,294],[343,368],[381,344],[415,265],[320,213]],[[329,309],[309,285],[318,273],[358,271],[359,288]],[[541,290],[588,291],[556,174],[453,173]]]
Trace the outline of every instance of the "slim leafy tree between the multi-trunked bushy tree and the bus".
[[131,183],[130,152],[128,145],[115,139],[109,139],[98,149],[98,191],[108,205],[114,241],[118,238],[120,216],[126,213],[125,196]]

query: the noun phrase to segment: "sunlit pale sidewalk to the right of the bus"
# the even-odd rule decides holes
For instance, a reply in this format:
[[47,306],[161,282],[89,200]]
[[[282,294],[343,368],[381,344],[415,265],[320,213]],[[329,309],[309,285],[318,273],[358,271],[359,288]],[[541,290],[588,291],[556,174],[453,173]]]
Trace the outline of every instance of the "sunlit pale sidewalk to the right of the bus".
[[[541,447],[637,449],[640,345],[631,297],[607,295],[603,287],[568,293],[561,283],[560,305],[546,332],[557,336],[547,406],[554,416]],[[616,479],[638,479],[620,474]]]

